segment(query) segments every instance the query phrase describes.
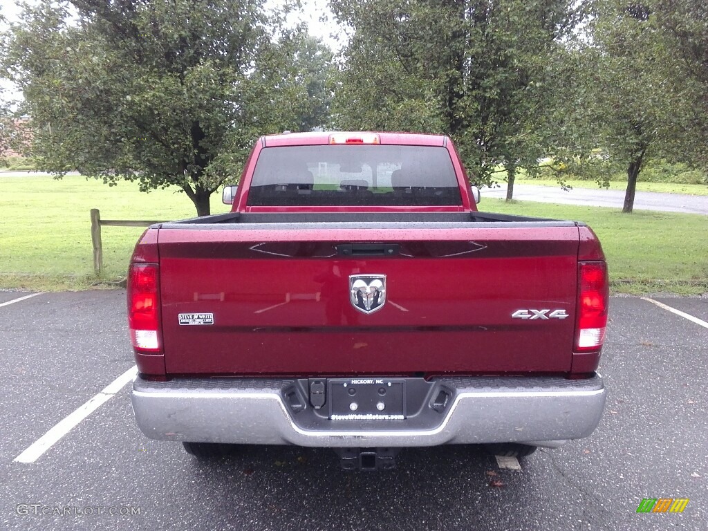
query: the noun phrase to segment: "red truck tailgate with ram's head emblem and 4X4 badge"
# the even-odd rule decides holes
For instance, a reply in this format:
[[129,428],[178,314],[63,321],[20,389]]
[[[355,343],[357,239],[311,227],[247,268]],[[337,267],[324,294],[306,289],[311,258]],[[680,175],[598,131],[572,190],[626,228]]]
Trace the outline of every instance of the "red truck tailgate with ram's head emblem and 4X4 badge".
[[[309,225],[159,230],[166,372],[570,370],[574,224]],[[340,244],[362,243],[398,247],[392,256],[337,252]],[[365,314],[350,302],[350,275],[386,276],[377,312]],[[568,317],[512,318],[531,309]]]

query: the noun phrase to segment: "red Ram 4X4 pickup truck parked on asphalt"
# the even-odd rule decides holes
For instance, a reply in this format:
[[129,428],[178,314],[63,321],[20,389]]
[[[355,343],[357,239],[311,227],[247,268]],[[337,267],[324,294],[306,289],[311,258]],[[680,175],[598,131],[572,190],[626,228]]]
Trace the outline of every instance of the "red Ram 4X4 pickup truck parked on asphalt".
[[590,435],[607,267],[585,224],[479,212],[448,137],[265,136],[232,212],[149,227],[127,307],[137,423],[197,457],[523,456]]

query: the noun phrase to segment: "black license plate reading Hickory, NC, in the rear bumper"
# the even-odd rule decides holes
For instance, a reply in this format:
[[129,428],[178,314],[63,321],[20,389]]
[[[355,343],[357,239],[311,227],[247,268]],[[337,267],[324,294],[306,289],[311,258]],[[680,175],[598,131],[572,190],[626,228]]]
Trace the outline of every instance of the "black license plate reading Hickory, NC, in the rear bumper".
[[402,421],[406,381],[389,378],[331,378],[327,381],[333,421]]

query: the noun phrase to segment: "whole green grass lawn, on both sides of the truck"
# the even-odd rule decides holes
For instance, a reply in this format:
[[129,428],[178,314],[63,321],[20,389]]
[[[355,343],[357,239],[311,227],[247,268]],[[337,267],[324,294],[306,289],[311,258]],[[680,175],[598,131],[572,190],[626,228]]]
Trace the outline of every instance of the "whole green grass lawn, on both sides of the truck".
[[[708,291],[708,217],[484,198],[481,210],[587,222],[600,236],[616,291]],[[101,227],[103,278],[93,276],[91,208],[103,219],[193,217],[192,202],[173,190],[140,193],[135,183],[108,186],[68,176],[0,175],[0,288],[86,289],[125,276],[142,228]],[[227,212],[219,194],[212,213]]]

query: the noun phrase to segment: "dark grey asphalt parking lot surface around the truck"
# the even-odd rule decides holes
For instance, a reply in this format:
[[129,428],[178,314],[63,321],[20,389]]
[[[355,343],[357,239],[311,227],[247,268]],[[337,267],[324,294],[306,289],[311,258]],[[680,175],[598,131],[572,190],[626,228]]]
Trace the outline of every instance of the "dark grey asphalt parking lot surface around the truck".
[[[388,473],[339,469],[333,452],[251,447],[198,462],[145,438],[130,383],[125,292],[0,292],[0,528],[4,530],[708,529],[708,329],[638,297],[613,297],[592,437],[501,469],[478,447],[409,449]],[[708,299],[659,298],[708,321]],[[52,426],[105,402],[34,462]],[[638,514],[642,498],[688,498]]]

